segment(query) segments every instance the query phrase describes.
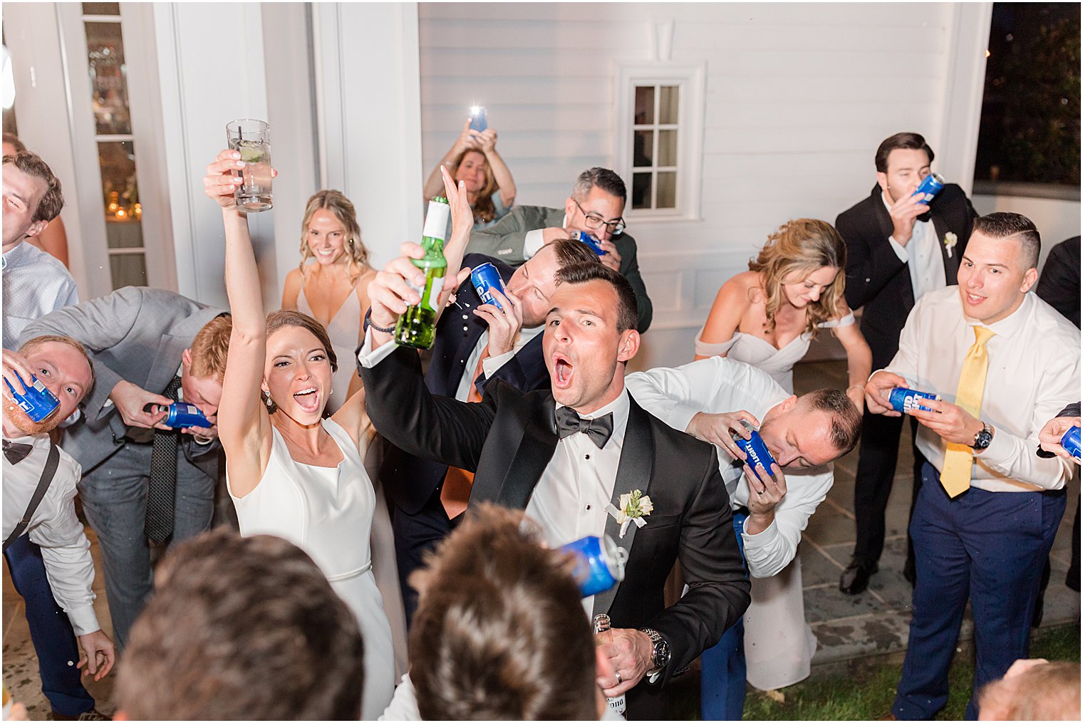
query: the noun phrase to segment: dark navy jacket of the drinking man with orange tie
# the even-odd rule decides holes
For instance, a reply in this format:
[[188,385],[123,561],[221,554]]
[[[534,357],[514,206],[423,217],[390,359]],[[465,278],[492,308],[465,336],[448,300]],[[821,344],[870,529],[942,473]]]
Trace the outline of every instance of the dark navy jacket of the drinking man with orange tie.
[[[480,253],[467,254],[462,259],[462,265],[473,268],[486,261],[496,266],[505,282],[514,273],[506,263]],[[425,384],[431,393],[453,398],[466,373],[467,360],[482,333],[488,329],[484,319],[473,314],[473,310],[482,302],[470,279],[456,290],[455,301],[459,306],[447,308],[436,323],[432,357],[425,374]],[[549,371],[542,355],[542,334],[537,334],[519,350],[518,354],[497,370],[493,379],[503,379],[523,392],[549,389]],[[482,372],[474,383],[484,393],[490,381],[492,380],[486,379]],[[420,512],[446,474],[447,464],[403,451],[394,444],[387,445],[383,462],[380,464],[380,479],[386,482],[384,490],[403,512],[410,515]]]

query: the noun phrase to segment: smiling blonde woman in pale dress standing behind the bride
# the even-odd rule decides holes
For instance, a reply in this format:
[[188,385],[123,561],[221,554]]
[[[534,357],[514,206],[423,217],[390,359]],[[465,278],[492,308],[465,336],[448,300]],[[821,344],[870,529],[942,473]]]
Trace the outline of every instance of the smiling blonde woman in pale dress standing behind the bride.
[[[376,270],[368,265],[368,249],[353,203],[339,190],[317,190],[304,205],[301,221],[301,263],[286,275],[282,307],[293,308],[319,321],[342,360],[331,376],[331,393],[324,409],[334,415],[361,389],[353,353],[365,337],[362,320],[368,310],[368,282]],[[373,515],[373,574],[383,597],[395,647],[395,674],[406,671],[406,610],[399,584],[391,514],[377,476],[381,446],[369,447],[365,466],[376,489]]]

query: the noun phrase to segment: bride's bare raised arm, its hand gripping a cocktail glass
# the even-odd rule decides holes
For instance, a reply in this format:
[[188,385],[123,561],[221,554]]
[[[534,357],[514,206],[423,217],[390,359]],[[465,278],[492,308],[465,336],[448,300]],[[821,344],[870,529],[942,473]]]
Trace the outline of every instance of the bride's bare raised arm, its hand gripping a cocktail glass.
[[259,484],[271,457],[271,419],[260,398],[266,356],[266,319],[260,298],[260,275],[248,235],[248,218],[233,198],[244,166],[240,154],[223,150],[207,167],[207,196],[222,207],[225,224],[225,291],[233,331],[222,382],[218,429],[225,450],[233,494],[244,497]]

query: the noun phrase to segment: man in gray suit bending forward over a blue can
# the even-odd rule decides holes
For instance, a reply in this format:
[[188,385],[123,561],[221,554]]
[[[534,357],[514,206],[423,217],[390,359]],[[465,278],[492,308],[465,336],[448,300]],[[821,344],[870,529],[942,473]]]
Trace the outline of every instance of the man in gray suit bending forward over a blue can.
[[[86,419],[65,430],[64,449],[82,466],[79,494],[102,548],[121,648],[153,588],[147,540],[180,542],[210,528],[231,331],[224,314],[172,291],[125,287],[23,330],[24,339],[71,337],[94,363]],[[198,407],[211,426],[166,426],[165,407],[177,400]]]

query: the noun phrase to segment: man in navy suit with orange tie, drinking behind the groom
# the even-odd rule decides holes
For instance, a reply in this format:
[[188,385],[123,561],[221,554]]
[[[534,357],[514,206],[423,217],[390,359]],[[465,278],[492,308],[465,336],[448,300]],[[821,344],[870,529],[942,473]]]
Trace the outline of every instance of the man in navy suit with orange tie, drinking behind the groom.
[[[471,280],[465,280],[455,292],[456,306],[445,310],[436,324],[425,374],[429,391],[466,402],[480,399],[493,379],[523,392],[548,389],[542,326],[557,287],[557,273],[569,264],[597,263],[597,259],[585,245],[566,239],[540,249],[518,270],[478,253],[465,257],[465,266],[486,262],[496,266],[517,302],[516,313],[494,314],[495,308],[482,304]],[[409,576],[422,565],[425,552],[452,530],[449,517],[457,520],[456,514],[466,509],[469,498],[468,489],[456,498],[461,471],[453,470],[451,474],[445,492],[446,464],[409,455],[392,444],[387,446],[380,464],[380,479],[394,503],[395,555],[407,622],[417,609],[417,591],[409,584]]]

